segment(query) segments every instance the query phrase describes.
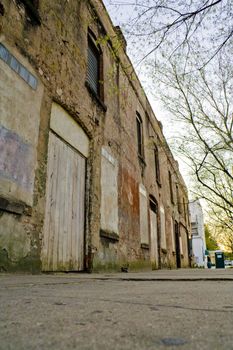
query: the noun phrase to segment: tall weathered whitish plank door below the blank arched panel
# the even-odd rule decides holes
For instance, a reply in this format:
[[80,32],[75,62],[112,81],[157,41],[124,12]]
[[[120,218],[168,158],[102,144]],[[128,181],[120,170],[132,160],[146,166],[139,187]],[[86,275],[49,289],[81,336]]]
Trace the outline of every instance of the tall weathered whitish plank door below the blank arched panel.
[[85,157],[50,132],[42,250],[44,271],[84,268],[85,166]]

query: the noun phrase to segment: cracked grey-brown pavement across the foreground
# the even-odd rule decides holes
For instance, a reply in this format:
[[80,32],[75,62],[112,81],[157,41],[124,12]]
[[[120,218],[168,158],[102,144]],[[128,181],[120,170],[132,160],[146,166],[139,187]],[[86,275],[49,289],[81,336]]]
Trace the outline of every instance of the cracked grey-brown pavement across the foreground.
[[0,275],[0,349],[233,349],[233,269]]

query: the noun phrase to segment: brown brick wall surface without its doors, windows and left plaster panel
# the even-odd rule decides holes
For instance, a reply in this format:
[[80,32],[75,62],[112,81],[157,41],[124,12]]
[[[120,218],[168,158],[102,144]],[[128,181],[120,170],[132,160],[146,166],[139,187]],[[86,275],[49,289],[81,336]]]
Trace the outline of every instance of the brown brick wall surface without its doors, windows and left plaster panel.
[[[120,45],[103,3],[99,0],[41,0],[38,8],[41,24],[38,25],[30,20],[28,9],[20,1],[0,2],[4,7],[4,16],[0,16],[0,40],[4,41],[12,53],[23,57],[24,65],[38,77],[44,91],[36,102],[32,98],[34,92],[30,89],[25,91],[25,101],[33,101],[38,111],[38,142],[36,137],[33,138],[33,159],[36,162],[32,162],[34,168],[30,166],[30,170],[34,169],[32,174],[34,171],[35,178],[29,191],[30,205],[16,216],[4,209],[2,211],[2,217],[6,220],[4,223],[7,224],[4,232],[0,233],[0,251],[3,256],[0,266],[2,269],[10,269],[10,266],[17,268],[26,259],[29,270],[33,261],[33,266],[40,269],[48,135],[54,101],[69,113],[90,140],[86,174],[85,268],[151,268],[150,238],[149,244],[141,244],[141,237],[146,231],[140,225],[140,184],[143,184],[147,192],[143,220],[146,220],[146,211],[149,211],[150,196],[158,206],[158,266],[175,266],[171,219],[173,222],[181,222],[188,230],[189,227],[184,213],[178,210],[177,202],[171,203],[168,170],[173,175],[174,188],[175,183],[178,183],[187,201],[186,187],[163,136],[162,125],[156,119],[141,84],[132,71],[130,60],[124,47]],[[102,51],[102,101],[85,85],[88,29],[98,38]],[[25,84],[18,82],[16,77],[14,83],[15,86]],[[28,87],[24,86],[23,89]],[[12,90],[12,94],[16,97],[16,91]],[[1,96],[7,105],[6,97]],[[30,129],[29,126],[22,127],[21,123],[24,116],[28,115],[27,102],[21,109],[20,130],[26,132]],[[137,153],[136,113],[140,114],[143,125],[143,159]],[[4,127],[7,125],[4,124]],[[11,126],[8,126],[8,130],[15,132]],[[36,127],[33,132],[36,132]],[[20,136],[23,138],[23,135]],[[159,151],[160,183],[155,177],[154,145]],[[103,159],[102,149],[107,150],[111,159],[116,162],[115,170],[108,170],[110,165],[107,165],[107,159]],[[27,159],[29,161],[30,156]],[[29,164],[32,163],[29,161]],[[109,183],[108,171],[112,174]],[[1,180],[3,181],[3,177]],[[16,199],[19,199],[18,195]],[[107,209],[104,209],[103,203],[111,204],[110,216],[107,215],[108,205],[105,204]],[[166,249],[165,243],[163,249],[161,247],[160,206],[164,207],[165,214]],[[150,237],[149,227],[147,225]],[[103,231],[115,235],[106,235]],[[22,239],[23,249],[17,248],[13,233],[17,233]],[[165,240],[163,238],[164,242]],[[184,256],[186,259],[187,251],[184,251]]]

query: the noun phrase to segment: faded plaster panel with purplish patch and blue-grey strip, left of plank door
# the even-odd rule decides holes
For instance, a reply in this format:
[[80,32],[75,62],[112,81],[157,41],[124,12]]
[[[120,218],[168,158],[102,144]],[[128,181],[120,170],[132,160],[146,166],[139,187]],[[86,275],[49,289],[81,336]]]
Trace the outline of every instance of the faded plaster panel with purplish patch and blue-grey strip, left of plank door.
[[[6,45],[3,38],[0,43]],[[15,49],[9,51],[34,71]],[[1,59],[0,77],[0,197],[32,206],[43,86],[38,80],[33,90]]]

